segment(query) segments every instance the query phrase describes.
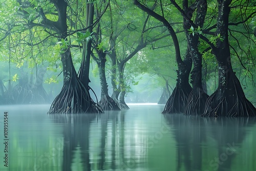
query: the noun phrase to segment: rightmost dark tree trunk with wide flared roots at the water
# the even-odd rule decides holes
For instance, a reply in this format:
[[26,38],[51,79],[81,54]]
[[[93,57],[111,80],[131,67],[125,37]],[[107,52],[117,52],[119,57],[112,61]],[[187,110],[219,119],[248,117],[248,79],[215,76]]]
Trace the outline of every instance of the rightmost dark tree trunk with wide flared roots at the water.
[[255,116],[256,109],[246,99],[240,81],[234,74],[231,66],[230,49],[228,41],[228,16],[231,1],[219,2],[217,18],[217,31],[223,40],[217,41],[217,47],[212,48],[212,53],[218,62],[218,89],[206,101],[205,111],[202,116]]

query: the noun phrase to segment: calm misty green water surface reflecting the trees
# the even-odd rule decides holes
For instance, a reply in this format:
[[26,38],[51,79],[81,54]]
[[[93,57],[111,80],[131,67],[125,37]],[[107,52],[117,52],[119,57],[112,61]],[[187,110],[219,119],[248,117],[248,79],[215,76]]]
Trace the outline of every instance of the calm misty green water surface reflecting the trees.
[[255,118],[163,115],[164,105],[129,106],[100,115],[0,106],[0,170],[256,170]]

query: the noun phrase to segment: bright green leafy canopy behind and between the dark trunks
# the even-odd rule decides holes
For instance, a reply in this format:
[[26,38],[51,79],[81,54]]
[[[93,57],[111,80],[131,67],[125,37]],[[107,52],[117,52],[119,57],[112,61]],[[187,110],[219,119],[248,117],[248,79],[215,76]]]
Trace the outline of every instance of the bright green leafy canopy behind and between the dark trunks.
[[[23,3],[25,2],[23,1]],[[99,9],[99,13],[102,12],[102,7],[106,4],[101,1],[90,1],[89,3],[94,3],[95,7]],[[68,48],[72,48],[72,60],[74,65],[79,67],[81,61],[79,48],[81,43],[89,37],[95,38],[98,36],[100,38],[95,41],[97,44],[95,48],[108,51],[109,53],[115,48],[118,62],[129,57],[139,45],[146,45],[146,48],[140,50],[126,62],[124,70],[126,85],[122,85],[126,87],[126,92],[130,92],[139,83],[138,81],[141,81],[138,79],[141,74],[147,74],[149,75],[148,77],[154,80],[154,86],[151,87],[151,90],[164,86],[165,81],[163,77],[169,80],[170,84],[175,85],[177,64],[174,57],[173,41],[172,38],[167,36],[166,28],[153,17],[148,17],[147,23],[144,24],[147,14],[135,7],[132,1],[115,1],[110,3],[111,10],[108,8],[99,21],[102,34],[100,37],[96,35],[96,27],[93,28],[93,34],[84,29],[87,22],[86,2],[69,2],[67,12],[67,25],[69,28],[67,34],[69,36],[66,39],[58,40],[59,35],[56,34],[56,30],[42,24],[42,16],[39,15],[39,10],[42,10],[49,21],[57,22],[57,10],[52,2],[30,0],[24,5],[18,4],[16,0],[2,1],[0,3],[1,61],[8,63],[10,56],[10,61],[14,68],[15,66],[16,68],[33,68],[46,65],[47,72],[54,73],[56,76],[62,70],[59,53],[64,53]],[[144,1],[144,3],[151,8],[155,1]],[[180,12],[173,5],[170,5],[169,1],[162,1],[161,3],[163,4],[163,11],[160,4],[156,6],[154,11],[164,15],[169,23],[173,23],[174,29],[181,32],[183,30],[183,17],[180,15]],[[177,3],[182,6],[182,1],[177,1]],[[246,3],[248,1],[245,0],[233,2],[229,16],[230,23],[241,22],[250,15],[251,11],[255,8],[253,6],[255,3],[250,1],[248,3],[250,6],[248,7]],[[214,16],[218,15],[217,2],[209,1],[207,5],[209,7],[207,9],[208,18],[204,22],[204,27],[191,27],[188,30],[190,34],[203,34],[204,29],[211,28],[216,24],[216,17]],[[254,59],[256,54],[255,22],[255,17],[251,17],[248,18],[245,24],[229,26],[229,31],[232,34],[229,35],[230,46],[232,47],[230,49],[232,66],[236,70],[237,75],[240,76],[240,80],[243,80],[243,83],[244,78],[247,80],[252,79],[248,71],[252,71],[253,74],[255,73],[253,70],[255,68],[254,63],[256,63],[256,59]],[[96,26],[98,25],[96,24]],[[213,34],[216,28],[208,31]],[[164,35],[166,37],[162,37]],[[220,34],[216,36],[211,34],[203,35],[214,45],[218,41],[223,41],[223,36]],[[184,32],[177,34],[177,36],[181,54],[184,54],[187,48],[186,42],[183,41],[185,39]],[[10,38],[10,41],[8,38]],[[114,38],[115,46],[113,47],[109,45],[110,38]],[[31,45],[33,45],[33,48],[31,48]],[[203,66],[207,67],[206,80],[212,81],[216,77],[216,60],[211,54],[211,50],[205,51],[208,47],[209,45],[200,39],[199,51],[204,59]],[[95,51],[93,52],[95,53]],[[110,60],[107,60],[107,62],[110,62]],[[247,70],[240,69],[243,68],[241,67],[242,65]],[[106,71],[112,70],[110,63],[107,63],[106,67]],[[93,75],[95,74],[98,74],[97,67],[93,69]],[[4,73],[3,77],[7,76],[8,73]],[[55,76],[49,76],[45,82],[57,82],[59,78]],[[16,75],[13,81],[17,79]],[[120,83],[119,78],[116,78],[115,81],[117,84]],[[251,83],[252,81],[248,82]],[[254,89],[250,87],[250,90]]]

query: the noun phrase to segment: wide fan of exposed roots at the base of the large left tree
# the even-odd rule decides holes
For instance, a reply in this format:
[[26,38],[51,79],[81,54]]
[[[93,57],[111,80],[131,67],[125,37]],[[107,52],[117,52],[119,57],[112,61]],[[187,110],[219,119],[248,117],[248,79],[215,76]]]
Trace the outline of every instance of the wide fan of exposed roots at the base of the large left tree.
[[54,99],[48,114],[103,113],[79,80],[77,80],[77,84],[73,84],[76,86],[71,86],[71,82],[69,87],[66,84],[63,86],[61,92]]

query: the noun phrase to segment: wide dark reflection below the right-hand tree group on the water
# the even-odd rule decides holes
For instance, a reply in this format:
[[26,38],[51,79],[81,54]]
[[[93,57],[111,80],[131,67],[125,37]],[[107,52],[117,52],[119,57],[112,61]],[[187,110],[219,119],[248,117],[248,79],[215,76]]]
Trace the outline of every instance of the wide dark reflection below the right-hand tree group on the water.
[[[256,118],[203,118],[164,115],[177,141],[176,170],[234,170],[234,158],[240,154],[247,127]],[[237,169],[236,169],[237,170]]]

